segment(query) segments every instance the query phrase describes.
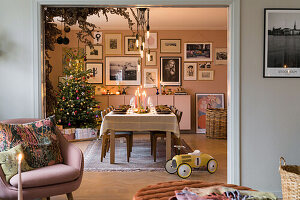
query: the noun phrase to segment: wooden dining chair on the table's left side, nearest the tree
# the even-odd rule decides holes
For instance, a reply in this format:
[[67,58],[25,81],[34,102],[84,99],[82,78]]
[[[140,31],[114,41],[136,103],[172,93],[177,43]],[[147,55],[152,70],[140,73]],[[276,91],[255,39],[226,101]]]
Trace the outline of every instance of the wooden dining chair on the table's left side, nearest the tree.
[[[104,121],[105,111],[101,111],[101,118]],[[133,144],[133,133],[128,132],[115,132],[115,138],[125,138],[127,144],[127,162],[129,162],[129,157],[132,152],[132,144]],[[103,158],[105,158],[106,153],[109,151],[109,143],[110,143],[110,134],[104,133],[102,135],[102,149],[101,149],[101,162],[103,162]]]

